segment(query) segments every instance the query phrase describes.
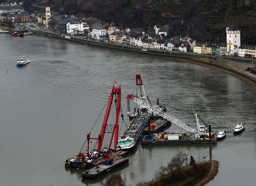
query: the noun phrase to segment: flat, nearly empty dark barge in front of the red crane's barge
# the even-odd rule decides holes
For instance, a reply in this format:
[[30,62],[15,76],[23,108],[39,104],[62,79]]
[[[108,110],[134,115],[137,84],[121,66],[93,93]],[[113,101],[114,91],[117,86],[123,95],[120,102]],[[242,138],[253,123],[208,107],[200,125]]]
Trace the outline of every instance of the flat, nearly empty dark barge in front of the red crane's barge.
[[116,158],[114,159],[111,165],[100,164],[99,166],[96,166],[88,171],[81,173],[81,177],[82,178],[98,178],[100,175],[103,175],[113,169],[116,169],[120,166],[128,164],[128,162],[129,162],[129,158]]

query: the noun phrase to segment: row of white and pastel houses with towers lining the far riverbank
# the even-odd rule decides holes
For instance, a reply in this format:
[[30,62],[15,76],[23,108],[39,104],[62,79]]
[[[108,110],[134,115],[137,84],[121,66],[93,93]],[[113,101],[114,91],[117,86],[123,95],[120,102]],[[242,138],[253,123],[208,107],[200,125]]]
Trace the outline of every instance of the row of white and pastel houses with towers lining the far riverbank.
[[[8,9],[10,6],[1,6],[0,11],[4,9],[2,7]],[[12,7],[14,8],[12,13],[15,13],[14,18],[17,21],[29,22],[29,12],[24,10],[15,12],[17,5]],[[240,45],[240,30],[234,22],[226,27],[226,43],[217,43],[215,41],[197,42],[189,36],[171,36],[170,25],[156,24],[153,27],[148,27],[147,32],[143,28],[125,28],[121,30],[113,22],[107,24],[93,17],[67,16],[63,7],[60,7],[56,14],[56,12],[50,11],[47,4],[44,13],[35,13],[30,16],[33,16],[38,23],[45,25],[47,28],[49,28],[51,20],[56,20],[57,24],[53,27],[58,32],[72,35],[82,34],[91,39],[167,51],[256,57],[255,46]]]

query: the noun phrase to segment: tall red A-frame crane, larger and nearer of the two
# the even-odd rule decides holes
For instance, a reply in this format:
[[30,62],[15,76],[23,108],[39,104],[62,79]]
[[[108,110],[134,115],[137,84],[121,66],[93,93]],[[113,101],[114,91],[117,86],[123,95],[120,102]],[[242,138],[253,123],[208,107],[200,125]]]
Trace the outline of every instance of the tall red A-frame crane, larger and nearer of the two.
[[[109,124],[107,124],[107,119],[108,119],[108,116],[109,116],[109,112],[110,112],[110,109],[111,109],[112,100],[113,100],[114,95],[117,95],[117,99],[114,100],[114,102],[115,102],[115,113],[116,113],[115,114],[115,124],[114,125],[109,125]],[[115,88],[114,84],[113,84],[112,91],[111,91],[111,94],[110,94],[110,97],[109,97],[109,100],[108,100],[106,113],[105,113],[105,117],[104,117],[104,120],[103,120],[101,131],[98,135],[98,138],[90,138],[90,133],[87,134],[87,141],[88,141],[87,150],[89,150],[89,140],[94,139],[94,140],[98,140],[97,151],[100,151],[105,133],[112,133],[110,144],[109,144],[107,152],[109,152],[109,150],[110,150],[113,135],[114,135],[114,151],[116,150],[116,145],[117,145],[117,141],[118,141],[118,127],[119,127],[118,123],[119,123],[120,103],[121,103],[121,88],[120,88],[120,85],[119,85],[119,87]]]

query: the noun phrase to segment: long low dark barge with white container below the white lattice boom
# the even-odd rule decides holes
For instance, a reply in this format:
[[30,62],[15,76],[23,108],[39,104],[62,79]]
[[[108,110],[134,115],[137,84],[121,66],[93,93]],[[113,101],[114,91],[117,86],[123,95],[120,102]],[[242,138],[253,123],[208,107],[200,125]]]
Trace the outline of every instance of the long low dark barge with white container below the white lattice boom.
[[180,145],[180,144],[216,144],[216,137],[200,138],[194,133],[183,134],[155,134],[155,136],[145,136],[141,145]]

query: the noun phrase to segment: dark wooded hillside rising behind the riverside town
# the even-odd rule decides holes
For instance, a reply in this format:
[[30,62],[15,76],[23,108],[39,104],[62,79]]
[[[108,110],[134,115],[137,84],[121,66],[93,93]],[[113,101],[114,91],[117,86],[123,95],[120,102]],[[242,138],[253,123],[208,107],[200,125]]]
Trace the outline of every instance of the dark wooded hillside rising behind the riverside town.
[[255,44],[256,0],[25,0],[28,11],[47,3],[67,14],[83,14],[120,28],[170,25],[171,35],[189,35],[197,41],[225,41],[225,27],[235,21],[241,42]]

